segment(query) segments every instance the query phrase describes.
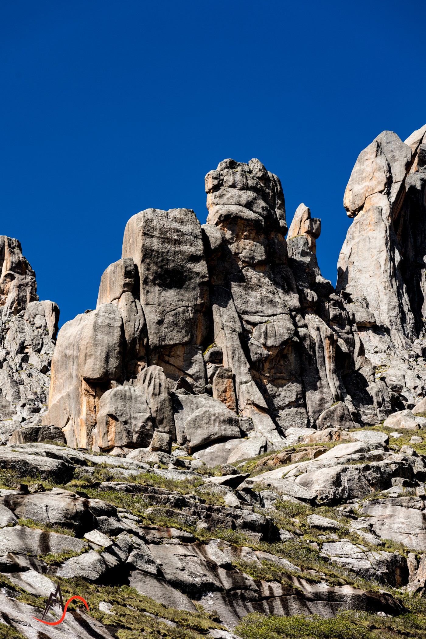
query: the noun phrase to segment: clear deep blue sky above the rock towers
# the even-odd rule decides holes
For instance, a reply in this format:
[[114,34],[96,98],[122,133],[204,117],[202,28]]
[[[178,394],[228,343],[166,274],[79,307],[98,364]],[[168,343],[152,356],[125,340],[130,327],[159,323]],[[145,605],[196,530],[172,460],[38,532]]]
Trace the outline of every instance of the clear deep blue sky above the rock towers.
[[0,6],[0,234],[61,323],[95,307],[134,213],[205,222],[204,175],[228,157],[280,177],[288,223],[301,202],[321,217],[335,284],[358,153],[426,123],[421,0]]

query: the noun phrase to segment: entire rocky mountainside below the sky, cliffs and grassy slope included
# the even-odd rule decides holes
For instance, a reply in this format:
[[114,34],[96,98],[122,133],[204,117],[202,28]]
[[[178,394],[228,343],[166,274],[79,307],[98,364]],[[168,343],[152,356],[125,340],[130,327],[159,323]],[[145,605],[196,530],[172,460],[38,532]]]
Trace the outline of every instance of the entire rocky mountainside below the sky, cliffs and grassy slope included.
[[[347,639],[426,637],[425,150],[426,125],[360,153],[336,288],[321,220],[300,204],[287,230],[277,176],[224,160],[206,224],[128,221],[56,346],[56,305],[0,238],[6,626],[334,637],[337,615]],[[57,583],[89,613],[42,631]]]

